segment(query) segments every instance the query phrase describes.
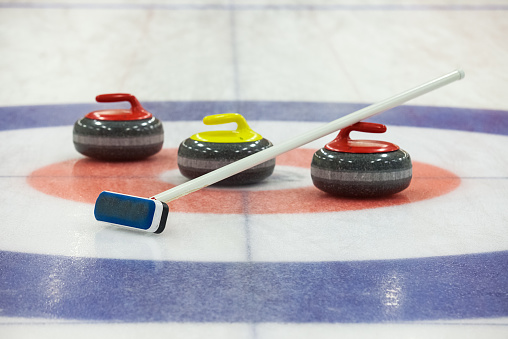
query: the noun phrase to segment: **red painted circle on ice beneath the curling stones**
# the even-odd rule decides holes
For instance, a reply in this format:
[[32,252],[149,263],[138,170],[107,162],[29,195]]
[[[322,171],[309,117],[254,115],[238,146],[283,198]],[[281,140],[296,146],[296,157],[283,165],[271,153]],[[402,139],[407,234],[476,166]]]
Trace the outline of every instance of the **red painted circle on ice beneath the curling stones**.
[[[277,157],[277,164],[309,168],[314,149],[295,149]],[[160,174],[176,169],[177,150],[163,149],[158,154],[135,162],[102,162],[74,159],[35,170],[28,183],[35,189],[63,199],[95,203],[102,191],[150,197],[174,185],[162,181]],[[214,214],[316,213],[362,210],[408,204],[451,192],[460,178],[442,168],[413,162],[413,179],[406,190],[376,199],[338,198],[314,186],[247,191],[205,188],[170,202],[171,211]]]

